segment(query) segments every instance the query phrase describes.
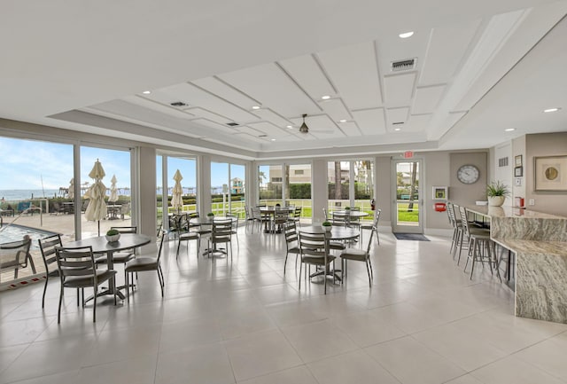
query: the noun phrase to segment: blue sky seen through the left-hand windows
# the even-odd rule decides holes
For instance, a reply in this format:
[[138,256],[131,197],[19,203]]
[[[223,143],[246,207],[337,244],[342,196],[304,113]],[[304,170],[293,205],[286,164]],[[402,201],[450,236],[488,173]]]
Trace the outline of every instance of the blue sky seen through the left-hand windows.
[[[0,137],[0,190],[12,189],[58,189],[68,187],[73,177],[73,145],[55,144],[42,141],[22,140],[9,137]],[[88,146],[81,147],[81,177],[82,183],[92,184],[89,177],[96,160],[99,160],[105,169],[103,183],[110,187],[111,178],[116,176],[119,188],[130,187],[130,153]],[[194,160],[182,158],[168,158],[167,179],[168,184],[175,184],[173,176],[179,168],[183,175],[183,187],[196,185]],[[211,164],[211,186],[228,184],[229,170],[227,163]],[[161,177],[161,168],[158,167],[157,177]],[[239,177],[244,180],[245,167],[231,166],[232,178]],[[159,182],[159,184],[161,184]]]

